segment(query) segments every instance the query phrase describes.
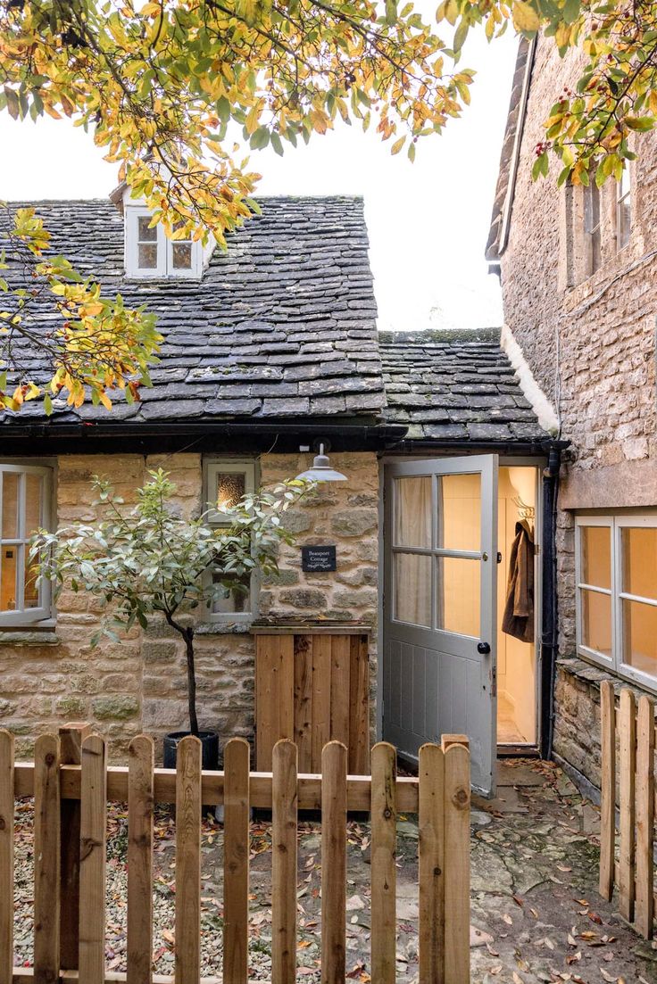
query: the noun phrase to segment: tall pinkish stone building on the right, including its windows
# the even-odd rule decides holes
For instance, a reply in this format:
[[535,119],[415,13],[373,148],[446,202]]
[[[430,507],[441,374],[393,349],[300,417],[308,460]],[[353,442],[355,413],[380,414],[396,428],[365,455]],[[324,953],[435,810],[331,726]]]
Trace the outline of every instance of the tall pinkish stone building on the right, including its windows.
[[577,77],[576,53],[521,43],[487,256],[501,277],[504,348],[570,442],[554,749],[599,785],[600,681],[657,691],[657,139],[642,137],[624,180],[600,191],[559,190],[552,172],[532,181],[549,109]]

